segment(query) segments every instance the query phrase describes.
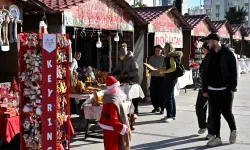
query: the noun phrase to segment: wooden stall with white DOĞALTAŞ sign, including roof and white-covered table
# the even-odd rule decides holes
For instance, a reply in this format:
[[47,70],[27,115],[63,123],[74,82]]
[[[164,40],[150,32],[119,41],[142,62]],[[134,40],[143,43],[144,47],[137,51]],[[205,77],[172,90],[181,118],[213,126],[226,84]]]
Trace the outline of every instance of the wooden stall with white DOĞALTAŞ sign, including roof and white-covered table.
[[[154,54],[153,47],[155,45],[159,44],[164,47],[166,42],[170,42],[177,51],[183,52],[182,64],[188,70],[190,50],[185,39],[190,39],[191,26],[180,12],[173,6],[141,7],[135,8],[135,10],[148,23],[147,25],[136,27],[135,33],[135,37],[139,37],[136,45],[144,48],[144,62],[147,62],[149,57]],[[149,85],[145,70],[143,85]],[[192,73],[187,71],[183,77],[178,79],[176,95],[186,85],[193,84],[193,80],[189,80],[190,76],[192,76]],[[145,86],[143,88],[144,91],[147,91]]]

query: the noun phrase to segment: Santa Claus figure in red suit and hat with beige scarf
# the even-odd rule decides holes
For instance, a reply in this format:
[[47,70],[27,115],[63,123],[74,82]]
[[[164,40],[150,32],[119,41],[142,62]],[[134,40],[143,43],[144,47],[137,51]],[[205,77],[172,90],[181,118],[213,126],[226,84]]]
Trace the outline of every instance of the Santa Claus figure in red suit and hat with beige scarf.
[[103,129],[105,150],[130,150],[131,132],[122,102],[124,93],[113,77],[106,79],[107,91],[103,96],[103,108],[99,125]]

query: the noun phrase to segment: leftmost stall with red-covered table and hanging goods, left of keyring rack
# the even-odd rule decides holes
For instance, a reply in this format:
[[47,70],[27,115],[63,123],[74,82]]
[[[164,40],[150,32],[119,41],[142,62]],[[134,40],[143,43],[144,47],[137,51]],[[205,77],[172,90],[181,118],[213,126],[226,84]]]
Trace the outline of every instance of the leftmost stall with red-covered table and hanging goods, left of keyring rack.
[[17,41],[22,22],[23,5],[0,0],[0,149],[20,133]]

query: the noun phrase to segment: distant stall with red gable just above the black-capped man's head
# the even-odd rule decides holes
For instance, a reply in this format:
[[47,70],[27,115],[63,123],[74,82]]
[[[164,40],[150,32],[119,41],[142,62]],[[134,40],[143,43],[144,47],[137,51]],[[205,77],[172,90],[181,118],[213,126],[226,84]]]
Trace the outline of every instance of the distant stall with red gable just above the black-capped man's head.
[[221,21],[213,21],[214,26],[218,30],[217,34],[221,38],[221,43],[228,45],[230,44],[230,37],[233,35],[233,30],[231,28],[231,25],[227,20],[221,20]]

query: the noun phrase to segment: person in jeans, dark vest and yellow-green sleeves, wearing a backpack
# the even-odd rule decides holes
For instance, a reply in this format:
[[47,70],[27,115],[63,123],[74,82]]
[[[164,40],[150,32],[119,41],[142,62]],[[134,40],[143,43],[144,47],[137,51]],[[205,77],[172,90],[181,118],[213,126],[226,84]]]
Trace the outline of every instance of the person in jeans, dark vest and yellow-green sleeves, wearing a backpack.
[[170,123],[175,120],[176,117],[174,88],[178,77],[175,75],[175,71],[177,62],[180,63],[183,53],[181,51],[175,51],[175,49],[169,43],[165,44],[164,51],[166,68],[159,68],[158,70],[160,73],[164,74],[164,107],[167,109],[167,116],[163,119],[165,122]]

